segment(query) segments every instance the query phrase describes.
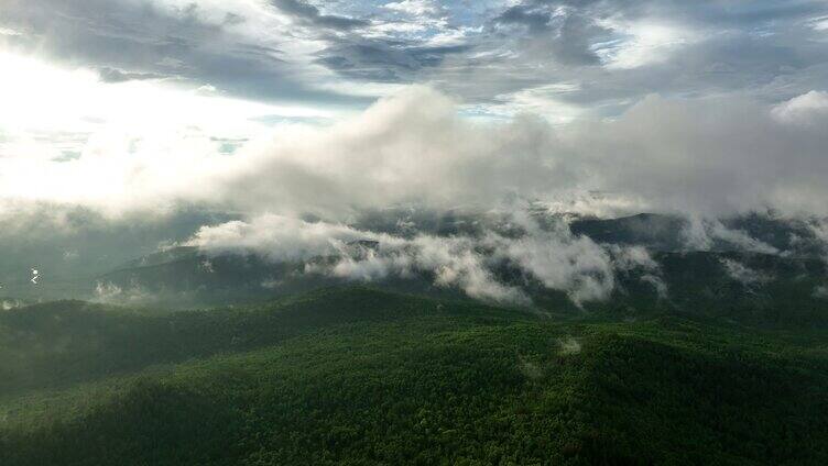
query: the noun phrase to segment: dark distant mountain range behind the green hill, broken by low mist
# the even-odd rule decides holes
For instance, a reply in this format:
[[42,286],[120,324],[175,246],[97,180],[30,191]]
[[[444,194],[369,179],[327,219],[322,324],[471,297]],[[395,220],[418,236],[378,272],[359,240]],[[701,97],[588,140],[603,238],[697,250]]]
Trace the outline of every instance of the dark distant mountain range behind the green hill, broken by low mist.
[[[511,234],[511,226],[498,224],[497,218],[458,212],[439,217],[417,215],[410,211],[374,212],[360,218],[356,228],[401,237],[423,232],[440,236],[473,236],[483,234],[487,229]],[[534,215],[541,224],[557,221],[555,215],[540,210]],[[828,302],[819,292],[820,287],[828,282],[825,245],[804,221],[767,215],[694,221],[643,213],[619,219],[570,218],[568,228],[574,235],[587,236],[596,243],[643,246],[658,265],[657,277],[644,277],[649,273],[642,270],[619,273],[612,299],[587,302],[582,306],[586,310],[620,309],[634,313],[669,309],[705,313],[721,312],[721,304],[727,303],[731,312],[773,320],[783,311],[788,319],[794,319],[797,313],[809,318],[811,314],[821,315],[820,310]],[[374,241],[370,243],[355,243],[353,247],[367,252],[378,246]],[[59,280],[50,280],[50,267],[44,267],[46,279],[39,287],[29,286],[28,277],[20,274],[17,282],[4,287],[0,296],[28,299],[76,297],[111,303],[164,303],[183,308],[228,304],[352,282],[308,271],[313,268],[308,265],[325,265],[336,259],[319,256],[308,263],[274,262],[252,252],[207,254],[193,246],[173,246],[126,260],[109,270],[79,267]],[[548,289],[508,267],[498,270],[498,278],[525,288],[540,309],[581,311],[564,291]],[[438,297],[464,296],[460,290],[435,286],[434,277],[427,273],[390,276],[375,285]]]

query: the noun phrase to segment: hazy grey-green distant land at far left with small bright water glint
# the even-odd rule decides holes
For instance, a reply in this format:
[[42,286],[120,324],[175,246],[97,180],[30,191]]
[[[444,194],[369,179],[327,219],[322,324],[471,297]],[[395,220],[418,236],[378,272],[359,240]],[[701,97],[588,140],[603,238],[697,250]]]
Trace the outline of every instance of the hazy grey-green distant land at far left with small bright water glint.
[[[236,219],[199,208],[171,208],[152,219],[113,219],[80,207],[44,206],[0,228],[0,293],[34,300],[88,298],[96,276],[135,266],[137,257],[157,256],[161,247],[185,242],[203,225]],[[41,276],[36,286],[30,281],[32,268]]]

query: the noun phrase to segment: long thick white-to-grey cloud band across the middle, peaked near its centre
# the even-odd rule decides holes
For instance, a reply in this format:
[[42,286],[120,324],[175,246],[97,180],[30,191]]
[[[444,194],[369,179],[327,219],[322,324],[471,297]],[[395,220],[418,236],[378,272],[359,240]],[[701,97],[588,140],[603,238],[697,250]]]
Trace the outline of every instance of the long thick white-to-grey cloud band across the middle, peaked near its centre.
[[[617,213],[828,214],[828,116],[781,121],[772,108],[653,96],[610,121],[479,122],[415,86],[330,126],[282,126],[229,157],[219,142],[183,133],[161,145],[96,138],[68,162],[0,158],[0,197],[112,212],[196,203],[344,220],[406,203],[486,210],[514,198],[555,203],[598,191],[599,204],[627,211]],[[774,253],[706,222],[699,241]]]

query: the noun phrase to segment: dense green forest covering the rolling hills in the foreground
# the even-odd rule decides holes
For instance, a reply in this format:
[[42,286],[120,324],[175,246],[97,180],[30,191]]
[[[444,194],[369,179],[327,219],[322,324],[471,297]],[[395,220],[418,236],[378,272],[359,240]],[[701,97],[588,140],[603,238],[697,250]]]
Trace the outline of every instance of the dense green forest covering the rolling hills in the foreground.
[[828,464],[819,329],[362,288],[0,314],[0,464]]

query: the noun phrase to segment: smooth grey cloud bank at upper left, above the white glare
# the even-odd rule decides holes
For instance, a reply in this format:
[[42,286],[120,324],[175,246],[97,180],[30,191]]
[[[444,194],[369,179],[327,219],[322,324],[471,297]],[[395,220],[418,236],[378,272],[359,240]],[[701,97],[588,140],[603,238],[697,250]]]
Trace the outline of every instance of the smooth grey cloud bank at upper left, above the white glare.
[[[303,18],[330,27],[349,24],[345,18],[316,13],[308,10]],[[0,27],[28,33],[6,43],[0,36],[0,49],[101,69],[106,82],[175,77],[261,101],[364,101],[314,86],[318,73],[301,60],[285,59],[305,53],[297,48],[318,45],[310,45],[310,35],[286,34],[288,23],[274,16],[259,2],[10,0],[3,4]]]

